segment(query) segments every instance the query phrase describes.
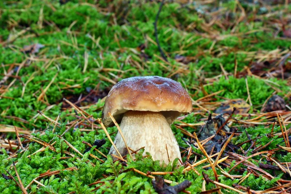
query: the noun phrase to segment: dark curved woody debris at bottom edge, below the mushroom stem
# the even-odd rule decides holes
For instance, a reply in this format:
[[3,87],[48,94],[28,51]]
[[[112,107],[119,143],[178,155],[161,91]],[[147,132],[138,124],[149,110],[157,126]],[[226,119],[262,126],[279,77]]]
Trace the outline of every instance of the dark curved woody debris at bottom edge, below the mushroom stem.
[[157,176],[152,179],[152,184],[158,194],[178,194],[191,186],[189,180],[184,180],[182,183],[175,186],[168,186],[162,176]]

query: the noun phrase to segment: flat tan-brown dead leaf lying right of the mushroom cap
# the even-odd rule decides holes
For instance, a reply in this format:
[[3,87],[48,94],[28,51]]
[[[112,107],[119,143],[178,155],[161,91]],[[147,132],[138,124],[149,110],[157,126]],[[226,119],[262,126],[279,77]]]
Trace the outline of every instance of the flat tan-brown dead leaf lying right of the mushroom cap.
[[229,99],[224,101],[221,106],[214,111],[214,113],[231,114],[234,107],[236,108],[234,112],[235,114],[247,113],[250,110],[250,105],[243,99]]

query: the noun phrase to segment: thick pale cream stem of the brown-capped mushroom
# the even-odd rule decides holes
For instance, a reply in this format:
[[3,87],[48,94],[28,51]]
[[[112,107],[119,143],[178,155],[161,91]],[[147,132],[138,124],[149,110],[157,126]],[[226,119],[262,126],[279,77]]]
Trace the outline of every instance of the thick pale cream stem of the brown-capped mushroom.
[[[149,152],[153,160],[164,161],[166,164],[169,163],[169,159],[171,162],[176,158],[181,160],[177,140],[162,113],[128,111],[122,118],[120,129],[122,130],[127,145],[132,150],[137,150],[145,146],[144,155],[146,155],[146,152]],[[119,132],[117,132],[114,144],[121,155],[128,153]],[[109,154],[117,155],[113,146]]]

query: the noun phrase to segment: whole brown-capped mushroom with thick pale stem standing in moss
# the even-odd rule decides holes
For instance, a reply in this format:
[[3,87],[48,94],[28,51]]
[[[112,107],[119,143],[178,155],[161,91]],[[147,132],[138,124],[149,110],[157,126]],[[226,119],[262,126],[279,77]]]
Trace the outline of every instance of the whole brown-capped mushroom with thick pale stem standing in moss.
[[[179,146],[170,125],[182,113],[192,112],[192,101],[177,81],[159,76],[131,77],[119,81],[110,90],[102,111],[105,126],[113,126],[111,113],[127,145],[145,147],[153,160],[166,164],[181,160]],[[121,134],[114,140],[121,155],[128,154]],[[112,146],[109,154],[117,155]]]

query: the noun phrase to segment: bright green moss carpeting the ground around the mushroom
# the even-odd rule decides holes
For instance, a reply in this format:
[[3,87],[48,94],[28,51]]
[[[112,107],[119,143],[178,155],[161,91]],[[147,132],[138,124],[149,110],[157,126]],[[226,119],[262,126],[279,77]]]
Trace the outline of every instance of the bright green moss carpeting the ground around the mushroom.
[[[171,77],[179,81],[189,91],[191,97],[198,99],[204,97],[204,94],[200,91],[197,92],[196,88],[204,78],[222,74],[220,64],[228,73],[233,73],[236,60],[237,72],[240,72],[244,66],[249,65],[250,58],[253,57],[249,52],[267,53],[274,49],[282,51],[291,48],[291,41],[280,39],[282,33],[274,37],[277,29],[268,26],[269,17],[255,19],[256,15],[253,12],[253,9],[256,8],[260,16],[268,12],[279,11],[277,13],[280,13],[283,8],[291,10],[290,5],[287,7],[278,5],[264,10],[258,5],[244,2],[241,4],[247,13],[246,18],[233,26],[236,19],[240,17],[239,11],[233,12],[235,8],[238,10],[235,0],[214,2],[210,5],[193,2],[188,7],[176,2],[167,2],[162,7],[157,25],[161,48],[169,55],[169,63],[165,63],[160,58],[158,46],[153,42],[156,41],[153,23],[160,7],[159,3],[140,3],[140,1],[128,3],[123,0],[113,0],[109,5],[107,0],[69,0],[65,4],[60,4],[59,0],[49,2],[40,0],[0,1],[0,42],[8,43],[0,45],[0,80],[4,78],[11,65],[14,65],[15,71],[16,67],[21,65],[18,77],[10,77],[4,83],[4,88],[6,88],[15,80],[13,85],[4,91],[4,98],[0,98],[0,123],[28,130],[36,129],[38,132],[32,134],[35,137],[45,142],[52,139],[56,141],[54,145],[56,152],[46,148],[45,151],[35,153],[42,146],[31,142],[28,150],[18,153],[16,158],[10,160],[6,159],[8,154],[2,149],[0,172],[8,175],[6,173],[8,170],[16,177],[14,169],[10,166],[12,162],[17,161],[17,171],[24,186],[27,186],[34,178],[48,170],[78,168],[78,170],[61,171],[57,175],[38,179],[45,187],[32,183],[28,192],[33,194],[66,194],[72,191],[89,194],[95,188],[97,188],[96,193],[155,193],[151,179],[132,171],[132,168],[145,173],[147,171],[173,171],[173,175],[168,174],[164,178],[175,182],[191,180],[192,185],[188,190],[194,194],[201,192],[202,176],[198,176],[194,171],[183,173],[183,167],[178,169],[173,168],[173,165],[161,167],[158,162],[152,161],[149,153],[148,157],[143,158],[144,150],[137,154],[136,162],[131,161],[128,157],[128,166],[113,162],[110,156],[108,159],[104,158],[93,148],[84,153],[87,146],[82,141],[93,144],[97,139],[105,139],[106,144],[99,150],[108,154],[108,147],[111,146],[111,143],[102,129],[84,132],[81,131],[83,129],[81,126],[77,126],[75,129],[67,131],[63,138],[76,147],[83,156],[76,153],[67,146],[63,139],[56,136],[56,134],[61,135],[65,132],[65,125],[68,122],[76,120],[74,110],[62,109],[62,99],[71,96],[84,97],[88,94],[87,90],[95,88],[97,84],[100,84],[99,90],[103,91],[112,87],[113,81],[146,75]],[[217,18],[222,22],[223,28],[216,22],[209,25],[213,19],[209,13],[224,8],[231,11],[228,15],[229,20],[224,20],[224,15]],[[41,12],[43,13],[42,19]],[[226,15],[226,13],[224,14]],[[274,18],[281,19],[281,14],[274,14],[271,18],[272,21]],[[27,29],[28,27],[30,29]],[[27,29],[26,32],[25,29]],[[37,43],[44,45],[45,48],[40,49],[38,53],[21,51],[24,46]],[[146,56],[142,55],[140,51],[134,50],[141,44],[146,45],[144,50]],[[86,61],[85,53],[88,54],[88,64],[86,71],[83,72]],[[176,55],[193,57],[193,61],[186,65],[178,63],[175,60]],[[26,63],[24,63],[25,60]],[[15,73],[13,75],[16,75]],[[54,76],[56,77],[53,80]],[[102,76],[111,81],[103,79]],[[45,92],[45,100],[38,100],[44,88],[52,80],[53,82]],[[274,87],[278,87],[277,85],[280,85],[279,95],[285,96],[290,92],[287,81],[262,80],[249,76],[247,81],[254,105],[251,112],[264,103],[275,91]],[[246,99],[248,95],[245,84],[243,78],[221,77],[212,85],[206,86],[205,90],[209,94],[224,90],[216,96],[217,100],[221,101],[224,98]],[[94,118],[100,118],[103,104],[104,101],[97,99],[96,103],[85,111]],[[49,109],[47,109],[48,107]],[[37,111],[42,111],[52,119],[60,115],[60,128],[56,127],[55,132],[52,133],[54,128],[52,123],[47,122],[43,116],[33,118]],[[186,116],[183,122],[198,123],[204,117],[203,114],[192,113]],[[178,122],[172,125],[172,129],[179,146],[188,148],[189,145],[182,138],[188,140],[189,137],[176,128],[175,124]],[[184,129],[193,133],[199,131],[200,127],[194,129],[185,127]],[[276,148],[277,144],[284,146],[281,137],[267,138],[265,136],[266,132],[270,132],[271,129],[271,127],[264,126],[249,129],[239,128],[242,135],[235,137],[232,143],[239,144],[246,141],[247,136],[243,132],[246,130],[252,138],[261,136],[257,140],[258,145],[266,145],[270,139],[273,140],[265,150]],[[280,131],[279,128],[274,130]],[[108,128],[109,133],[115,134],[116,131],[115,127]],[[8,133],[5,138],[12,140],[15,137],[15,133]],[[194,152],[202,154],[195,146],[191,146]],[[249,146],[250,143],[247,143],[242,145],[242,148],[247,149]],[[69,151],[76,156],[64,158],[68,157],[64,151]],[[251,151],[247,155],[250,155]],[[89,156],[90,153],[105,162],[102,163],[92,158]],[[29,155],[31,156],[28,157]],[[78,160],[77,156],[81,160]],[[274,156],[280,162],[290,162],[291,160],[289,153],[284,156],[276,153]],[[260,159],[259,156],[250,160],[258,164],[256,161],[258,159]],[[88,160],[95,166],[88,163]],[[185,162],[186,157],[182,160]],[[192,160],[195,160],[195,155],[190,157],[190,161]],[[199,157],[198,160],[200,160]],[[203,165],[198,165],[196,170],[200,174],[205,172],[211,179],[214,179],[213,172],[207,168],[203,169]],[[234,163],[231,164],[231,166],[233,165]],[[239,167],[243,166],[239,165]],[[229,167],[225,168],[225,170],[229,169]],[[219,169],[217,172],[222,174]],[[233,173],[240,174],[240,172]],[[245,175],[246,173],[243,174],[243,176]],[[262,177],[251,175],[242,182],[242,186],[263,190],[274,186],[275,181],[280,177],[281,175],[277,173],[275,179],[265,180]],[[89,186],[97,180],[104,183]],[[219,181],[229,186],[238,183],[238,179],[231,180],[224,176],[219,177]],[[206,186],[206,189],[213,188],[214,185],[211,183]],[[226,193],[225,190],[223,192]],[[0,193],[22,193],[22,191],[13,180],[0,177]]]

